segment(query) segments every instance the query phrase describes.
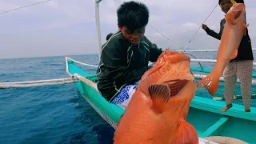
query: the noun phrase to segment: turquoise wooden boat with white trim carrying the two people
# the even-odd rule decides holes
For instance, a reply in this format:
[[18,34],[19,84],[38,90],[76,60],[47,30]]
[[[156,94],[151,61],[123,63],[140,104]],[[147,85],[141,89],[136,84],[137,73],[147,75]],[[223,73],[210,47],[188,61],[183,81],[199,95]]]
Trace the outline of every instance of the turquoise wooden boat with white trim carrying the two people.
[[[95,1],[95,18],[98,34],[98,48],[99,51],[101,51],[102,43],[98,11],[99,2],[101,2],[101,0]],[[211,71],[210,69],[204,68],[201,62],[216,62],[214,59],[198,59],[189,51],[181,52],[192,56],[194,59],[191,59],[191,62],[199,63],[199,67],[190,68],[197,80],[206,76],[202,75],[202,73],[209,74]],[[110,102],[107,102],[106,99],[98,92],[97,76],[95,74],[86,73],[86,71],[83,71],[79,66],[77,66],[77,64],[82,66],[93,66],[66,57],[66,73],[69,74],[71,78],[77,78],[79,80],[78,82],[75,82],[75,85],[82,96],[90,106],[92,106],[94,110],[110,124],[110,126],[116,129],[124,110]],[[256,66],[255,62],[254,66]],[[252,77],[256,78],[256,73],[254,73]],[[220,81],[223,81],[223,78],[220,78]],[[256,82],[253,80],[253,83]],[[212,140],[214,136],[214,138],[235,138],[247,143],[256,143],[256,140],[254,140],[254,130],[256,130],[256,107],[251,106],[251,112],[245,113],[244,106],[234,103],[230,110],[222,113],[220,110],[226,106],[224,101],[216,101],[214,98],[205,98],[204,95],[207,94],[207,91],[198,91],[199,93],[197,92],[191,102],[187,122],[190,122],[190,124],[192,124],[197,130],[200,143],[204,143],[206,141],[210,142],[206,139],[210,138]],[[220,142],[219,139],[218,142]]]

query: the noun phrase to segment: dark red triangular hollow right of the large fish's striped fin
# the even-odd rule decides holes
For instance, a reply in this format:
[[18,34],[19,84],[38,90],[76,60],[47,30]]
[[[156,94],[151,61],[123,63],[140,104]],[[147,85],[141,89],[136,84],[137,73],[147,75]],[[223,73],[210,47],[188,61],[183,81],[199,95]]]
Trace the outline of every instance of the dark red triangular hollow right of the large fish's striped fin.
[[170,98],[176,96],[180,90],[189,82],[187,79],[175,79],[165,82],[170,89]]

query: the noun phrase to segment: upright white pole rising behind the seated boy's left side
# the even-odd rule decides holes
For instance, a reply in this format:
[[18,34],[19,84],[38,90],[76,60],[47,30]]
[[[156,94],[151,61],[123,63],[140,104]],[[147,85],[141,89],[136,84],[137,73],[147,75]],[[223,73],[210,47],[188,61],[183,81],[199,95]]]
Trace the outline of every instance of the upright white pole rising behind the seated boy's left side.
[[99,21],[99,2],[102,0],[95,0],[95,20],[96,20],[96,30],[98,37],[98,58],[101,58],[102,55],[102,38],[101,38],[101,27]]

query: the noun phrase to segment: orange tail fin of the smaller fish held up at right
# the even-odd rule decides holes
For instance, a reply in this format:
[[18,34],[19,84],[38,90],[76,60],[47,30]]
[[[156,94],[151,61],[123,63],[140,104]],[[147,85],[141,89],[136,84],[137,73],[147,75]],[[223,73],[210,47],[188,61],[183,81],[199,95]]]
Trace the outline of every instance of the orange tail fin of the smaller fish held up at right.
[[211,72],[206,76],[206,78],[202,78],[201,81],[197,83],[197,85],[204,86],[206,90],[208,90],[210,95],[214,96],[214,94],[218,90],[218,80],[218,76]]

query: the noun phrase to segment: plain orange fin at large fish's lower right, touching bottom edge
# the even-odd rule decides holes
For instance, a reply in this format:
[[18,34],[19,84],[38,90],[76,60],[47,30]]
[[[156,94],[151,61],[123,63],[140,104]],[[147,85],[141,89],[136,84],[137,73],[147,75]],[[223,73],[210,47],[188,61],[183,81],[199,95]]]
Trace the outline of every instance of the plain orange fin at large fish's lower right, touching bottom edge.
[[173,143],[198,144],[199,138],[194,126],[183,119],[180,120],[178,122],[178,130],[175,134]]

